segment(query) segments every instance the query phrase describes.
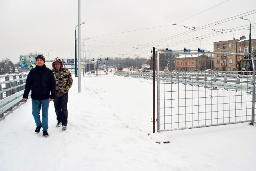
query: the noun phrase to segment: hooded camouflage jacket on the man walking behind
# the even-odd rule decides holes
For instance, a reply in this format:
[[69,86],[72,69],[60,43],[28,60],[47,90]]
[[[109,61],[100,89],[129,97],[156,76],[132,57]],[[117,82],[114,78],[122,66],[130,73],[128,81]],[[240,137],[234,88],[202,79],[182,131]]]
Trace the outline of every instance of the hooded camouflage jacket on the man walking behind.
[[54,67],[54,63],[59,62],[58,60],[59,59],[54,59],[54,62],[52,63],[52,73],[56,81],[56,96],[60,97],[63,96],[63,94],[68,93],[68,90],[71,88],[73,84],[73,79],[70,71],[66,68],[63,68],[62,63],[60,71],[56,70],[56,68]]

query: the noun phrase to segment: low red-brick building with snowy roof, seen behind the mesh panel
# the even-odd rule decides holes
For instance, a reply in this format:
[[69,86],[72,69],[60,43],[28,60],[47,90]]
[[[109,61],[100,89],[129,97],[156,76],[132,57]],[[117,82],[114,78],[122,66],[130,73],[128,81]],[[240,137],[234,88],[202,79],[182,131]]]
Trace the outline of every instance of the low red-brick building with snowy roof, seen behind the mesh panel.
[[207,55],[181,55],[175,58],[176,71],[204,71],[213,68],[213,61]]

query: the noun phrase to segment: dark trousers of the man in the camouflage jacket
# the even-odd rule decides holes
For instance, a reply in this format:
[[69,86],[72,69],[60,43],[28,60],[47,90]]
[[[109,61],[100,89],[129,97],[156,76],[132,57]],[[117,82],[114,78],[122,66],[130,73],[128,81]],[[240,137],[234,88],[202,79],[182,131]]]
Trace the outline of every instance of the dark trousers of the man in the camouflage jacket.
[[62,125],[66,126],[68,124],[68,93],[61,97],[55,97],[53,102],[58,122],[62,122]]

